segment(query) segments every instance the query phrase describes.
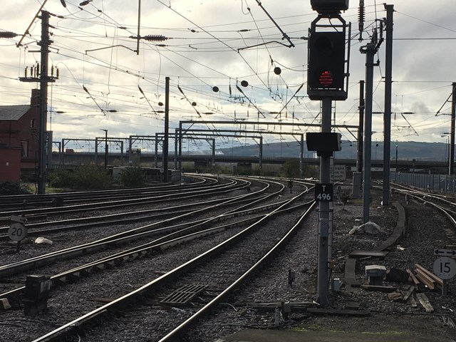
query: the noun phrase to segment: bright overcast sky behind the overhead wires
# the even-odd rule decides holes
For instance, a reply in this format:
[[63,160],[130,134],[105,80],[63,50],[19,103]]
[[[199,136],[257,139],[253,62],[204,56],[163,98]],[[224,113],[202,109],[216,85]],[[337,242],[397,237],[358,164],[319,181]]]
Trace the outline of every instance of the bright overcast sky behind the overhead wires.
[[[317,14],[310,0],[142,0],[140,36],[163,41],[140,42],[139,0],[48,0],[51,16],[51,66],[59,79],[49,86],[48,130],[54,140],[128,138],[164,130],[165,77],[170,77],[170,130],[180,120],[244,120],[277,123],[270,126],[194,125],[199,129],[304,133],[304,126],[279,123],[319,123],[320,102],[306,93],[307,42]],[[0,39],[0,105],[29,103],[31,88],[25,68],[40,61],[41,21],[35,19],[43,1],[3,1],[0,31],[18,33]],[[351,22],[348,99],[335,103],[333,123],[358,125],[359,81],[366,56],[360,53],[386,12],[380,1],[365,0],[366,23],[359,41],[358,1],[342,14]],[[391,140],[447,142],[450,94],[456,81],[456,1],[390,1],[393,4],[393,117]],[[265,11],[274,19],[269,19]],[[28,26],[30,34],[16,47]],[[282,39],[281,31],[290,37]],[[385,43],[375,61],[373,112],[383,112]],[[274,68],[281,68],[276,75]],[[247,81],[248,86],[245,86]],[[304,85],[304,86],[303,86]],[[218,87],[219,91],[214,91]],[[301,88],[300,88],[301,87]],[[86,90],[84,90],[86,88]],[[142,90],[142,92],[141,92]],[[215,89],[217,90],[217,89]],[[450,98],[450,100],[448,100]],[[278,114],[280,113],[280,114]],[[373,141],[383,140],[383,115],[373,115]],[[408,113],[408,114],[403,114]],[[410,114],[411,113],[411,114]],[[314,130],[310,128],[309,130]],[[346,130],[344,140],[354,141]],[[265,135],[266,142],[293,140],[290,135]],[[245,138],[237,143],[248,142]],[[226,140],[225,140],[226,143]]]

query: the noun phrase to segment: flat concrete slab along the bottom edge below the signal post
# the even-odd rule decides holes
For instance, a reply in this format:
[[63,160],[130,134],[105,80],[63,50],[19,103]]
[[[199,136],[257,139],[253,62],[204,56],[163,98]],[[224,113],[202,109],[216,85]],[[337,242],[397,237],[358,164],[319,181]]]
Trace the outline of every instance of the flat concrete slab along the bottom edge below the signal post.
[[446,337],[402,336],[385,333],[330,333],[323,331],[244,330],[217,342],[452,342]]

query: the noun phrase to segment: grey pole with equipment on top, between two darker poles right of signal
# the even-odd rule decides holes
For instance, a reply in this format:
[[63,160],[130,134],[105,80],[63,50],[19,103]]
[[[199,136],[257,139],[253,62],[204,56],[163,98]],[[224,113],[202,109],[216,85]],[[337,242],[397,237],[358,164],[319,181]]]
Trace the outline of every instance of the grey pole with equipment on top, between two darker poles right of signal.
[[364,164],[363,164],[363,223],[369,221],[369,206],[371,204],[371,141],[372,141],[372,98],[373,98],[373,58],[374,43],[365,46],[366,53],[366,113],[364,115]]

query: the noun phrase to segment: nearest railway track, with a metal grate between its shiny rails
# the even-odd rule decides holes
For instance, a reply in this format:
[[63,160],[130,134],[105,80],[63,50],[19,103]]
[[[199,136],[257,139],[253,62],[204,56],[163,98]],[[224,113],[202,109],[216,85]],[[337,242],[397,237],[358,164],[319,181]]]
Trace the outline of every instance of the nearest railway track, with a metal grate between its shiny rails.
[[[175,341],[175,338],[180,336],[193,321],[207,314],[215,305],[219,304],[228,296],[233,289],[242,284],[244,279],[252,276],[253,272],[261,264],[266,262],[274,252],[283,247],[283,244],[294,233],[294,229],[298,229],[301,220],[305,217],[302,212],[296,215],[294,224],[281,224],[280,229],[278,229],[277,224],[274,223],[274,215],[288,205],[289,203],[282,204],[281,207],[261,217],[257,222],[251,224],[241,232],[229,237],[229,239],[217,244],[217,246],[212,247],[206,252],[199,254],[190,261],[167,271],[162,276],[158,276],[139,289],[135,289],[118,299],[110,301],[110,303],[90,311],[33,341],[61,341],[63,338],[68,340],[71,336],[78,336],[78,334],[86,332],[86,329],[89,327],[90,333],[87,334],[85,340],[100,341],[100,336],[106,336],[104,328],[112,331],[112,327],[109,325],[120,324],[119,318],[114,322],[106,321],[105,324],[99,326],[100,330],[97,329],[97,331],[94,331],[94,324],[100,320],[109,320],[109,317],[112,318],[115,313],[121,310],[123,329],[128,329],[127,326],[130,326],[129,321],[132,317],[128,316],[129,314],[135,316],[135,321],[138,321],[137,311],[135,311],[134,307],[133,310],[130,309],[130,305],[138,301],[147,301],[149,303],[150,309],[143,311],[141,314],[142,319],[147,320],[147,324],[156,326],[150,321],[150,318],[162,316],[163,311],[166,311],[168,314],[165,321],[171,324],[171,326],[162,326],[161,329],[154,329],[155,336],[151,336],[151,341]],[[312,205],[309,204],[305,213],[309,212],[311,208]],[[271,222],[266,223],[265,221]],[[252,248],[255,245],[257,245],[257,248]],[[229,264],[237,264],[237,272],[225,274],[223,269],[226,269]],[[191,274],[189,274],[190,270],[192,270]],[[208,277],[210,283],[195,284],[196,279],[199,279],[197,282],[201,283],[202,279],[208,279]],[[204,294],[202,295],[206,296],[203,303],[193,303],[190,316],[183,315],[182,311],[184,310],[182,309],[172,309],[179,305],[172,299],[176,291],[182,291],[182,288],[189,286],[189,284],[193,288],[193,293],[187,294],[187,296],[193,298],[203,292]],[[158,291],[159,289],[161,290]],[[185,303],[185,301],[183,302]],[[164,309],[166,307],[170,308],[170,311]],[[159,319],[160,322],[162,322],[161,318]],[[135,331],[135,326],[136,324],[130,326],[130,331]]]

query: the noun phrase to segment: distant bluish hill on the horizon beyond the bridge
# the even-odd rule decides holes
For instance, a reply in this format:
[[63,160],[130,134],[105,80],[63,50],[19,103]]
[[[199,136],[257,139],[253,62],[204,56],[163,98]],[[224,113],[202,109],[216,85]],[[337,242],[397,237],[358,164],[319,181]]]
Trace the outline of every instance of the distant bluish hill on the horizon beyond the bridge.
[[[376,146],[378,145],[378,146]],[[448,145],[445,142],[398,142],[398,160],[427,160],[445,161],[448,160]],[[224,155],[238,155],[249,157],[259,154],[258,145],[247,145],[242,147],[229,147],[216,150]],[[263,157],[299,157],[299,144],[296,141],[274,142],[263,145]],[[391,142],[390,160],[395,160],[396,142]],[[372,143],[372,160],[383,159],[383,142]],[[313,157],[312,152],[307,151],[304,142],[304,157]],[[336,152],[337,159],[356,159],[356,143],[342,142],[342,150]]]

